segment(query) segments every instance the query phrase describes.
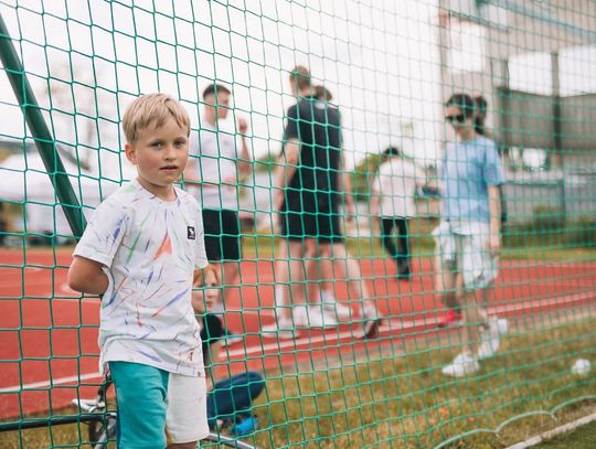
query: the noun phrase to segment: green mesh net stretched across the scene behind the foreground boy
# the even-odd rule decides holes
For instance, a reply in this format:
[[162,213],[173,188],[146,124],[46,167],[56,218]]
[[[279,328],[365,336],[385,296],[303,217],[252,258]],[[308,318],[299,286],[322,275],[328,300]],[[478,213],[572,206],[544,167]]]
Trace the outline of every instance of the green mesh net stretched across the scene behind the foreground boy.
[[66,272],[153,92],[190,115],[223,287],[205,446],[504,447],[594,411],[593,1],[0,14],[0,446],[115,446],[100,301]]

